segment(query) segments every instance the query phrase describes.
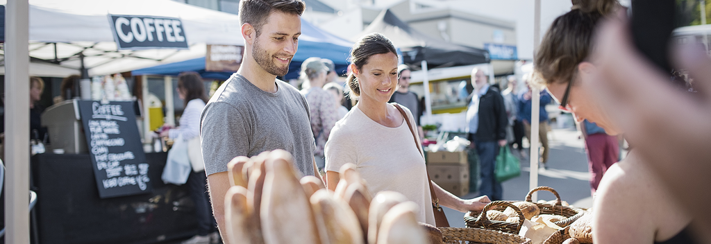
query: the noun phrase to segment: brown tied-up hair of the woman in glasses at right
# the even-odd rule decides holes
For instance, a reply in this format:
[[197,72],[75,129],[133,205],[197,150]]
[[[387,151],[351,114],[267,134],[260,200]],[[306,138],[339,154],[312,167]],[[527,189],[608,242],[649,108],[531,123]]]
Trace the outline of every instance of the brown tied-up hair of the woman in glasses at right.
[[592,51],[592,35],[599,20],[617,9],[617,0],[572,0],[570,12],[555,18],[543,36],[533,67],[532,84],[570,82],[577,65]]

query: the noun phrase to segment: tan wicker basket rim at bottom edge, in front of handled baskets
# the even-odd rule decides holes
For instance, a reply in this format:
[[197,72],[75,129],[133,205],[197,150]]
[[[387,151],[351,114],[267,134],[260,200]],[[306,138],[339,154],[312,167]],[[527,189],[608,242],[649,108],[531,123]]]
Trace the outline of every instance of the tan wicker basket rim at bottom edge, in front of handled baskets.
[[[486,214],[485,214],[486,215]],[[444,243],[449,244],[530,244],[531,240],[520,235],[482,228],[439,228]]]

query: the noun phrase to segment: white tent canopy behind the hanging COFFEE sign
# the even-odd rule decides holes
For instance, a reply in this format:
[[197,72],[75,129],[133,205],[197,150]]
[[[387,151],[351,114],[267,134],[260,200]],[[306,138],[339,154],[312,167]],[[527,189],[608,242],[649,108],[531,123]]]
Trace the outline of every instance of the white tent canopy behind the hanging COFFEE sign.
[[[6,5],[6,0],[0,0]],[[205,55],[206,44],[244,45],[239,16],[170,0],[31,0],[31,57],[88,74],[113,74]],[[117,50],[108,15],[180,18],[189,50]]]

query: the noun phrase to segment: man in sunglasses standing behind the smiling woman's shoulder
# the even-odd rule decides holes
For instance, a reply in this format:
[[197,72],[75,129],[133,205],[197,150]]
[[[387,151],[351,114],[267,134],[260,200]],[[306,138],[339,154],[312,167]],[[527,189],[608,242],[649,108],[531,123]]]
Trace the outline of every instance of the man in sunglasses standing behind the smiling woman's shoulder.
[[412,79],[410,74],[410,67],[405,64],[397,65],[397,90],[390,96],[390,101],[387,102],[396,102],[410,109],[412,115],[415,116],[419,140],[422,140],[424,139],[424,133],[422,132],[422,124],[419,123],[419,117],[422,116],[422,106],[419,103],[417,94],[409,90],[410,80]]

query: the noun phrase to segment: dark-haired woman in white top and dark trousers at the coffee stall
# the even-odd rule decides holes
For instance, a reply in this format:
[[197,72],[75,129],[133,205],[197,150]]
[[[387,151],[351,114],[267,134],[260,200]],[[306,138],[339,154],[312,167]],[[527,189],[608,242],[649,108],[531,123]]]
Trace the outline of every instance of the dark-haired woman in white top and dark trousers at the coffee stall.
[[[196,72],[183,72],[178,76],[178,97],[183,99],[183,115],[180,117],[177,128],[164,129],[161,131],[161,136],[168,137],[173,140],[188,140],[196,138],[200,135],[200,114],[205,108],[205,103],[208,101],[208,96],[205,93],[205,85],[200,74]],[[195,203],[196,217],[198,217],[198,235],[184,241],[183,243],[207,243],[210,242],[210,237],[216,239],[219,237],[217,232],[217,223],[212,215],[210,201],[208,196],[207,177],[205,170],[200,172],[191,172],[186,182],[190,187],[190,197]],[[212,243],[215,243],[213,240]]]

